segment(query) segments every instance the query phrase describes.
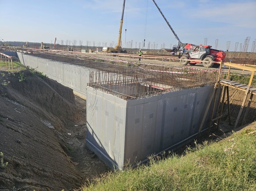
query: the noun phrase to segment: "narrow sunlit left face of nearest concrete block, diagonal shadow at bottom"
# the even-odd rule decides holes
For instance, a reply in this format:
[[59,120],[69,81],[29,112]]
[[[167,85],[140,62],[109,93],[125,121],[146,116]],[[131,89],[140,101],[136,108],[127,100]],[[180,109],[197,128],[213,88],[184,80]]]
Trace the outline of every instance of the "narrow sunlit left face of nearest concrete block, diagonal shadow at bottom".
[[109,167],[122,169],[127,102],[87,88],[87,146]]

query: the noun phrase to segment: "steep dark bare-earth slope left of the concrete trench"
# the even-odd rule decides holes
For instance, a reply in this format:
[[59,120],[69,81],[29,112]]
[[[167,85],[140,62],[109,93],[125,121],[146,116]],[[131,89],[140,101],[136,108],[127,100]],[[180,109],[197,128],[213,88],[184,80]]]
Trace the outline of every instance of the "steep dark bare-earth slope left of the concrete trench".
[[[73,90],[30,71],[0,72],[0,189],[78,188],[82,178],[64,152],[64,125],[80,119]],[[63,150],[64,149],[64,150]]]

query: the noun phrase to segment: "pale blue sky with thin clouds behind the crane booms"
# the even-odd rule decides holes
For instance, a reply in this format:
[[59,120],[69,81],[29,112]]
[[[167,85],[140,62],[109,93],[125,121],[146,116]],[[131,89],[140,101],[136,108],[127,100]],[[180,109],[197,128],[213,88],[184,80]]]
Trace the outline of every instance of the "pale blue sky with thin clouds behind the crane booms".
[[[256,0],[155,0],[183,43],[235,50],[250,37],[256,39]],[[116,45],[123,0],[0,0],[4,41],[29,41],[76,45]],[[125,32],[126,29],[126,32]],[[145,47],[143,41],[145,39]],[[216,40],[218,39],[218,40]],[[177,44],[152,0],[126,0],[122,47],[158,49]],[[153,45],[154,44],[154,45]],[[142,46],[142,47],[141,47]]]

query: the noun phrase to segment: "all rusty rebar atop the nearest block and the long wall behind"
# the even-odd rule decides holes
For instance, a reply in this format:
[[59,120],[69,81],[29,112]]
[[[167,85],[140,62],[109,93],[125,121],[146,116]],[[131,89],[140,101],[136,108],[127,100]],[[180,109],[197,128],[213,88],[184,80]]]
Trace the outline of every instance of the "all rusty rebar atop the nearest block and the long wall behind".
[[90,72],[88,86],[125,100],[214,85],[218,77],[217,71],[190,67],[177,68],[46,51],[34,52],[34,55],[97,69]]

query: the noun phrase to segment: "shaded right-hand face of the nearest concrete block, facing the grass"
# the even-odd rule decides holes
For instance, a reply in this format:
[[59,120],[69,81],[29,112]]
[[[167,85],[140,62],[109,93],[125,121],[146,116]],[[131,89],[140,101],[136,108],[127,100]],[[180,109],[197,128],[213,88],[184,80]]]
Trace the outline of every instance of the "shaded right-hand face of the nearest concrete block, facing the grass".
[[196,136],[212,89],[206,86],[129,100],[124,158],[144,161],[152,153],[175,150],[175,145]]

